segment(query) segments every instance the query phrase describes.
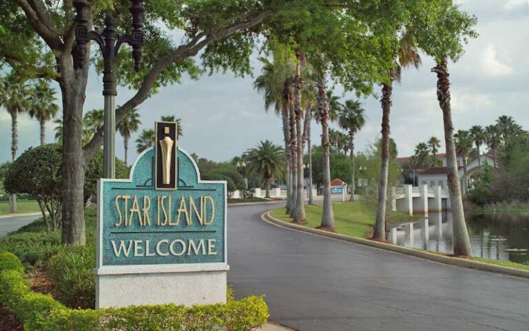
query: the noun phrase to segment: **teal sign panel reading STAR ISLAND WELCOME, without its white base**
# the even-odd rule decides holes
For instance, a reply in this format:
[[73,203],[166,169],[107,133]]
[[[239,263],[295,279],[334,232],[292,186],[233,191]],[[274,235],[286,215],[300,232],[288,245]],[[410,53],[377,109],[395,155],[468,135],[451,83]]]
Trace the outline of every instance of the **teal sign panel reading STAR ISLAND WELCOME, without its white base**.
[[176,172],[176,188],[163,188],[156,148],[136,159],[129,179],[99,181],[98,267],[226,263],[226,182],[201,181],[194,160],[175,149],[167,174]]

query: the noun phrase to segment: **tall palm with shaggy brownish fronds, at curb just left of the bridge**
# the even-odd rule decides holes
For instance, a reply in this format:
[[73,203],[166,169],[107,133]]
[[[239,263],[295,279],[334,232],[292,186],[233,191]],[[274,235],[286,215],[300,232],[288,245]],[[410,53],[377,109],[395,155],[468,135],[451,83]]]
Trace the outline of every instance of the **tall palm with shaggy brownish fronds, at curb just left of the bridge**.
[[382,83],[382,155],[380,166],[380,185],[378,187],[377,219],[373,238],[386,239],[386,204],[388,200],[388,169],[390,158],[390,121],[391,99],[393,97],[393,81],[400,82],[402,68],[419,68],[421,57],[413,35],[406,33],[400,39],[395,67],[388,72],[388,81]]

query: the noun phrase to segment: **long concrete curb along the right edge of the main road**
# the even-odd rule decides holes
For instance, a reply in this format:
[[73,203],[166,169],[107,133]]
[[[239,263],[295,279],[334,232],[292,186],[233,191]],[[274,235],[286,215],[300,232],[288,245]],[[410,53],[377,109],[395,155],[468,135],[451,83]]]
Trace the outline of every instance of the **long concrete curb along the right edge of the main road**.
[[349,241],[351,243],[358,243],[360,245],[366,245],[373,248],[378,248],[380,250],[388,250],[390,252],[397,252],[400,254],[406,254],[410,255],[412,257],[418,257],[420,259],[426,259],[430,261],[435,261],[438,263],[444,263],[448,265],[455,265],[457,267],[461,268],[468,268],[468,269],[474,269],[474,270],[481,270],[486,272],[495,272],[497,274],[506,274],[508,276],[513,277],[520,277],[524,279],[529,279],[529,271],[528,270],[521,270],[521,269],[515,269],[510,267],[504,267],[501,265],[493,265],[489,263],[483,263],[479,261],[472,261],[467,259],[460,259],[457,257],[446,257],[444,255],[439,254],[432,254],[429,252],[425,252],[424,250],[414,250],[412,248],[406,248],[403,246],[398,245],[391,245],[391,243],[382,243],[380,241],[373,241],[369,239],[362,239],[362,238],[355,238],[355,237],[349,237],[344,234],[338,234],[333,232],[327,232],[323,230],[313,229],[313,228],[307,228],[303,225],[298,225],[294,223],[287,223],[284,221],[280,221],[279,219],[276,219],[274,217],[271,217],[270,210],[267,212],[264,212],[261,214],[261,219],[263,221],[267,221],[269,223],[273,223],[275,225],[284,227],[284,228],[290,228],[293,230],[298,230],[301,232],[306,232],[310,234],[316,234],[318,236],[332,238],[332,239],[338,239],[342,241]]

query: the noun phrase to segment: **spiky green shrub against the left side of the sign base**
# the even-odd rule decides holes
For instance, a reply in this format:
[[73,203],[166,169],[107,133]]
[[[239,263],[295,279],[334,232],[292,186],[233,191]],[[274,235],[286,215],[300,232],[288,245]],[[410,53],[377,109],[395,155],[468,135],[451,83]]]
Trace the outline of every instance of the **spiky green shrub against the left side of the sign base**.
[[72,308],[94,308],[95,265],[96,249],[93,245],[59,246],[48,262],[48,272],[59,301]]

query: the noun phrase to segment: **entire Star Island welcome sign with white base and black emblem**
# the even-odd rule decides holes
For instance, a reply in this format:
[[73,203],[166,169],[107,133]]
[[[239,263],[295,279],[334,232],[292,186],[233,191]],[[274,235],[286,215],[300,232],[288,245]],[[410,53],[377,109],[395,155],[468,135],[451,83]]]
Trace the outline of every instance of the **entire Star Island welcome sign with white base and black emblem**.
[[200,180],[169,124],[129,179],[98,182],[96,308],[226,301],[226,182]]

